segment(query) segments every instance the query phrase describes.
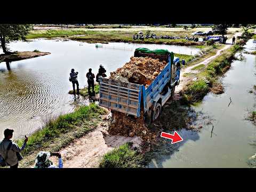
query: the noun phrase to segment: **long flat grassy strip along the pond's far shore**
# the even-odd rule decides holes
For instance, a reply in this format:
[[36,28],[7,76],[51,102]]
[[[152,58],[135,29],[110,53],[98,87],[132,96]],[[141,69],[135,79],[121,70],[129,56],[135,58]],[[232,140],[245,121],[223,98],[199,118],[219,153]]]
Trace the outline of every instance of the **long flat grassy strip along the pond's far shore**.
[[[167,45],[202,45],[202,43],[188,41],[186,39],[133,39],[132,36],[139,31],[130,30],[33,30],[27,35],[27,39],[34,38],[69,38],[75,41],[84,41],[87,43],[108,43],[108,42],[124,42],[124,43],[146,43],[146,44],[167,44]],[[145,31],[144,31],[145,32]],[[186,31],[168,32],[168,31],[151,31],[156,35],[173,35],[186,36]],[[186,35],[185,35],[186,34]]]

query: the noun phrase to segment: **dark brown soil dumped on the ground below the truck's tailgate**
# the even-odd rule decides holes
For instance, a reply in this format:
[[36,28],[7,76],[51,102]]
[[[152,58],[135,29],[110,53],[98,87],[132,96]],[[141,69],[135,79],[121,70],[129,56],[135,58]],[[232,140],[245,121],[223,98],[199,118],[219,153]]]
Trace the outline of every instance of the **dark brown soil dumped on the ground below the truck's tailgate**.
[[143,113],[140,114],[139,118],[126,116],[118,111],[112,111],[112,115],[114,115],[114,121],[109,125],[109,134],[123,135],[125,137],[139,136],[143,141],[156,141],[157,135],[146,126]]

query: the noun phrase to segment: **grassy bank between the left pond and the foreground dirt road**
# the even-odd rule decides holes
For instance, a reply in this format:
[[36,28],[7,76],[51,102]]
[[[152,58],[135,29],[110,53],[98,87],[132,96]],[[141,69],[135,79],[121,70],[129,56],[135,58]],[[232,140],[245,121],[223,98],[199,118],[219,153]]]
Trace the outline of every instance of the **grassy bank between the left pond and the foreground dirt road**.
[[[100,115],[106,111],[98,105],[91,104],[75,110],[73,113],[60,115],[58,118],[48,117],[45,119],[43,129],[38,130],[29,136],[26,148],[22,151],[25,158],[21,166],[28,166],[34,163],[35,155],[41,150],[56,152],[67,146],[74,139],[97,127],[101,118]],[[23,139],[17,140],[19,146]]]

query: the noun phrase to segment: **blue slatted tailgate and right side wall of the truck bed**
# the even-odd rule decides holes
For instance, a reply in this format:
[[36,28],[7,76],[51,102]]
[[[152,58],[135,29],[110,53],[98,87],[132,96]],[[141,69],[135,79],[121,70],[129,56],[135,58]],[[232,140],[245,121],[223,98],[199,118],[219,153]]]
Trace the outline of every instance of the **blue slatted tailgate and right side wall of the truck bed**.
[[[178,61],[179,58],[174,57],[173,63]],[[170,57],[164,69],[147,88],[144,85],[100,78],[99,105],[127,115],[139,117],[141,109],[147,112],[152,103],[160,97],[159,94],[170,79]],[[141,108],[142,105],[143,108]]]

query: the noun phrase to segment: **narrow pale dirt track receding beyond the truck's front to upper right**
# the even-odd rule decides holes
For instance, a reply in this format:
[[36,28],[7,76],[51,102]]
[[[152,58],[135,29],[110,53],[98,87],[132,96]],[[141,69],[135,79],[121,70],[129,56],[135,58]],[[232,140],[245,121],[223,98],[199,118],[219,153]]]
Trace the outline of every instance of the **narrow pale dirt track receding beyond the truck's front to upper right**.
[[[237,36],[240,36],[241,34],[242,34],[241,32],[238,32],[234,36],[237,38]],[[221,54],[222,51],[228,49],[230,46],[232,46],[232,38],[227,39],[226,45],[222,49],[218,50],[215,55],[212,55],[211,57],[205,59],[202,62],[197,63],[196,65],[193,65],[193,66],[185,68],[184,70],[181,70],[180,84],[177,87],[175,87],[175,92],[176,93],[180,92],[183,89],[183,86],[189,81],[189,78],[188,77],[183,77],[183,74],[185,74],[185,73],[197,73],[198,72],[197,70],[191,70],[191,69],[196,67],[196,66],[199,66],[199,65],[209,64],[214,58],[218,57]]]

